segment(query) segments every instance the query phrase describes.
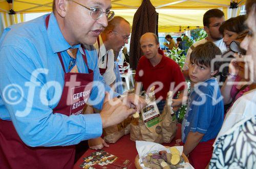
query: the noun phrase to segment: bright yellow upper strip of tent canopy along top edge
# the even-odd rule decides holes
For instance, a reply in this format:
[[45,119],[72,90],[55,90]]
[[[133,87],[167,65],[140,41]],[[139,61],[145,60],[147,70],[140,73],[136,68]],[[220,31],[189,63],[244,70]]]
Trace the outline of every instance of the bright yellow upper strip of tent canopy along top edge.
[[[112,0],[113,9],[137,9],[142,0]],[[238,0],[243,5],[245,0]],[[211,9],[226,8],[230,0],[151,0],[157,9]],[[23,12],[49,12],[52,10],[52,0],[13,0],[13,10]],[[0,12],[9,11],[6,0],[0,0]]]

